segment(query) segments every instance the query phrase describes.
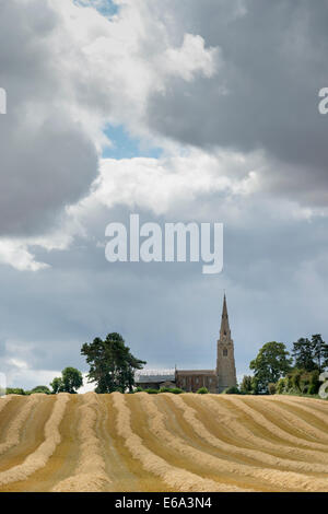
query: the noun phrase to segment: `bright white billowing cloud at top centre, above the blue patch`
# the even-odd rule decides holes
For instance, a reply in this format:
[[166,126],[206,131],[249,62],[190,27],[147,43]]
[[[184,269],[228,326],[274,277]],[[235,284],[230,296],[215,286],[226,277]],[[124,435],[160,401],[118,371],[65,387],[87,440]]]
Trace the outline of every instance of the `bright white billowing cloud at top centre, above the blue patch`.
[[177,43],[148,2],[116,2],[119,12],[109,20],[93,2],[84,3],[50,1],[61,20],[54,44],[65,81],[62,101],[98,148],[108,121],[152,139],[145,120],[149,96],[164,92],[172,75],[186,81],[212,77],[219,48],[208,48],[197,34],[181,34]]

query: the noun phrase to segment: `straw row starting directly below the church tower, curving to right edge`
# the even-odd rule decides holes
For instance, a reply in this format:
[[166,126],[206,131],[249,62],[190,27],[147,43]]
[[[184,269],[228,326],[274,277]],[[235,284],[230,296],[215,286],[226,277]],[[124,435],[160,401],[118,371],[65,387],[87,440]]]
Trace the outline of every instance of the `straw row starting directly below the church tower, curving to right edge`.
[[[273,423],[272,421],[270,421],[270,419],[263,416],[262,412],[259,412],[255,407],[249,406],[245,399],[241,400],[239,398],[236,398],[235,396],[232,396],[232,395],[231,396],[225,395],[225,396],[226,397],[224,398],[223,401],[231,402],[234,406],[238,407],[241,410],[247,413],[250,418],[253,418],[255,423],[263,427],[263,429],[266,429],[267,431],[278,435],[281,440],[295,444],[296,446],[305,447],[305,448],[317,449],[320,452],[323,452],[323,449],[324,451],[327,449],[327,446],[323,444],[314,443],[312,441],[301,439],[288,432],[286,430],[281,429],[278,424],[276,424],[276,422]],[[269,411],[269,413],[271,411]]]

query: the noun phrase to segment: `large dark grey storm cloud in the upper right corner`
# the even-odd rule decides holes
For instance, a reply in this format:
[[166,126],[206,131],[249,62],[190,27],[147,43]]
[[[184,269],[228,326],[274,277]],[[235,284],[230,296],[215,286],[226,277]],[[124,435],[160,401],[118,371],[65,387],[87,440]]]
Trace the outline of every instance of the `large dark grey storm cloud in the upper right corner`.
[[225,0],[161,3],[161,10],[175,7],[173,27],[219,46],[223,62],[211,79],[173,79],[165,94],[153,94],[148,121],[187,144],[265,150],[273,161],[268,180],[272,175],[276,190],[284,194],[290,174],[296,196],[309,189],[311,202],[327,203],[320,191],[328,184],[328,118],[318,113],[318,91],[328,84],[328,2],[238,5],[239,11]]

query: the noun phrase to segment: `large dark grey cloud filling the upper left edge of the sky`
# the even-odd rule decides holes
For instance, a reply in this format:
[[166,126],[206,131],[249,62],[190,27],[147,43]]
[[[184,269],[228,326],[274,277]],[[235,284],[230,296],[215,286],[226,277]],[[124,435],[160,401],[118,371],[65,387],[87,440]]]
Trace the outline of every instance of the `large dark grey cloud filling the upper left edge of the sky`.
[[96,175],[94,144],[61,105],[65,80],[51,36],[59,23],[42,0],[1,1],[0,234],[39,233]]

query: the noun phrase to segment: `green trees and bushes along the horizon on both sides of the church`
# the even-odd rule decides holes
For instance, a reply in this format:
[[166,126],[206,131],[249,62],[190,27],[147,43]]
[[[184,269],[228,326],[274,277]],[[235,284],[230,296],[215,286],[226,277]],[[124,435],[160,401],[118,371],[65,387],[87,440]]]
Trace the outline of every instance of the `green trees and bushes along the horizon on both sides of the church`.
[[[136,389],[134,372],[141,370],[147,362],[136,358],[124,338],[117,334],[108,334],[103,340],[96,337],[91,343],[82,346],[81,354],[90,366],[87,381],[95,384],[95,392],[133,393]],[[239,386],[230,387],[226,394],[267,395],[274,393],[315,395],[319,388],[319,374],[328,367],[328,344],[321,335],[311,338],[300,338],[293,342],[290,353],[283,342],[267,342],[250,362],[253,375],[245,375]],[[66,367],[61,376],[55,377],[50,387],[37,386],[25,392],[21,388],[8,388],[7,393],[14,394],[77,394],[83,386],[82,373],[75,367]],[[199,393],[204,394],[202,388]],[[157,393],[148,390],[149,393]],[[183,393],[175,388],[173,393]]]

